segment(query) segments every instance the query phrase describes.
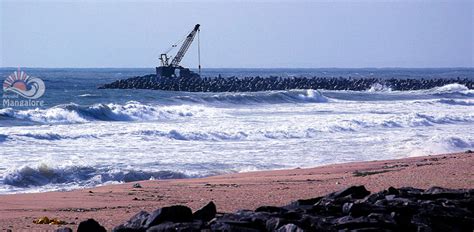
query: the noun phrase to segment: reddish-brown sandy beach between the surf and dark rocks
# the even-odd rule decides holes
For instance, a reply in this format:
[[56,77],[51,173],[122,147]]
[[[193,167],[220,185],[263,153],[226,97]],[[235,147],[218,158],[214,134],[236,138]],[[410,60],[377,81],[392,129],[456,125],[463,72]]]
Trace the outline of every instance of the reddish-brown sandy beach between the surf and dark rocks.
[[[77,224],[96,219],[107,229],[125,222],[140,210],[182,204],[196,210],[209,201],[218,212],[281,206],[351,185],[371,192],[390,186],[474,188],[474,153],[452,153],[394,160],[351,162],[314,168],[257,171],[205,178],[147,180],[67,192],[0,195],[2,230],[55,230],[37,225],[47,216]],[[139,183],[142,188],[133,188]]]

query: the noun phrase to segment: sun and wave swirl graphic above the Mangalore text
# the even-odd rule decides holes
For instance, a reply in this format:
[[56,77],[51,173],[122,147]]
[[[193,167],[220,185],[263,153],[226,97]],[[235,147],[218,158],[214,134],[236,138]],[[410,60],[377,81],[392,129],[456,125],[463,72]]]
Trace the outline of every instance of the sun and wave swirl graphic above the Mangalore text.
[[45,86],[43,80],[30,77],[18,69],[3,82],[3,92],[13,92],[22,97],[37,99],[43,96]]

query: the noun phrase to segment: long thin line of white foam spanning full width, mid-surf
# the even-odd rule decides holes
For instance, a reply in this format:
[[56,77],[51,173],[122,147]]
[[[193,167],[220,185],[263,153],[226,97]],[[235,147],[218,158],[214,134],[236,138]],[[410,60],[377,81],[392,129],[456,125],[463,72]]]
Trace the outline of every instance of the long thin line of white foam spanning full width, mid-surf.
[[[179,141],[262,141],[262,140],[284,140],[284,139],[304,139],[317,138],[321,133],[338,133],[338,132],[356,132],[370,129],[388,129],[388,128],[414,128],[429,127],[443,124],[463,124],[474,122],[474,114],[468,115],[451,115],[439,114],[430,115],[422,113],[403,114],[391,117],[373,117],[365,119],[343,119],[324,124],[313,124],[303,127],[288,127],[278,129],[240,129],[240,130],[209,130],[209,129],[127,129],[116,130],[114,132],[93,132],[87,131],[81,133],[75,131],[63,132],[16,132],[5,136],[11,140],[76,140],[76,139],[103,139],[110,137],[130,136],[132,138],[140,138],[142,140],[179,140]],[[80,129],[79,129],[80,130]],[[2,136],[0,135],[0,142]]]

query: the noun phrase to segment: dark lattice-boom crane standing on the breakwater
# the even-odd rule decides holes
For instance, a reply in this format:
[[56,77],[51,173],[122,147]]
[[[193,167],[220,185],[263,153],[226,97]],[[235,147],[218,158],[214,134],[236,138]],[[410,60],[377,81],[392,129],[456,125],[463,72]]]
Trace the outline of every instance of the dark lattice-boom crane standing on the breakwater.
[[[171,57],[168,56],[168,52],[170,52],[176,45],[173,45],[168,51],[162,53],[160,55],[161,66],[156,67],[156,75],[157,77],[196,77],[199,76],[201,73],[201,58],[200,58],[200,48],[199,48],[199,29],[200,25],[196,24],[194,29],[186,36],[183,44],[176,53],[176,56],[171,60]],[[199,74],[192,72],[191,70],[184,68],[179,65],[181,60],[183,59],[184,55],[188,51],[189,47],[191,46],[194,37],[198,34],[198,56],[199,56]]]

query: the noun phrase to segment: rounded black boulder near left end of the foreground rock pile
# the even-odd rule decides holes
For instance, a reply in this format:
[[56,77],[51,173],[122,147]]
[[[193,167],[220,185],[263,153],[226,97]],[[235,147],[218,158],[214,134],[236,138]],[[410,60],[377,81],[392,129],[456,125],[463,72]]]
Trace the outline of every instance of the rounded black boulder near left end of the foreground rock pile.
[[191,209],[183,205],[163,207],[153,211],[147,219],[145,228],[158,225],[162,222],[190,222],[193,220]]

